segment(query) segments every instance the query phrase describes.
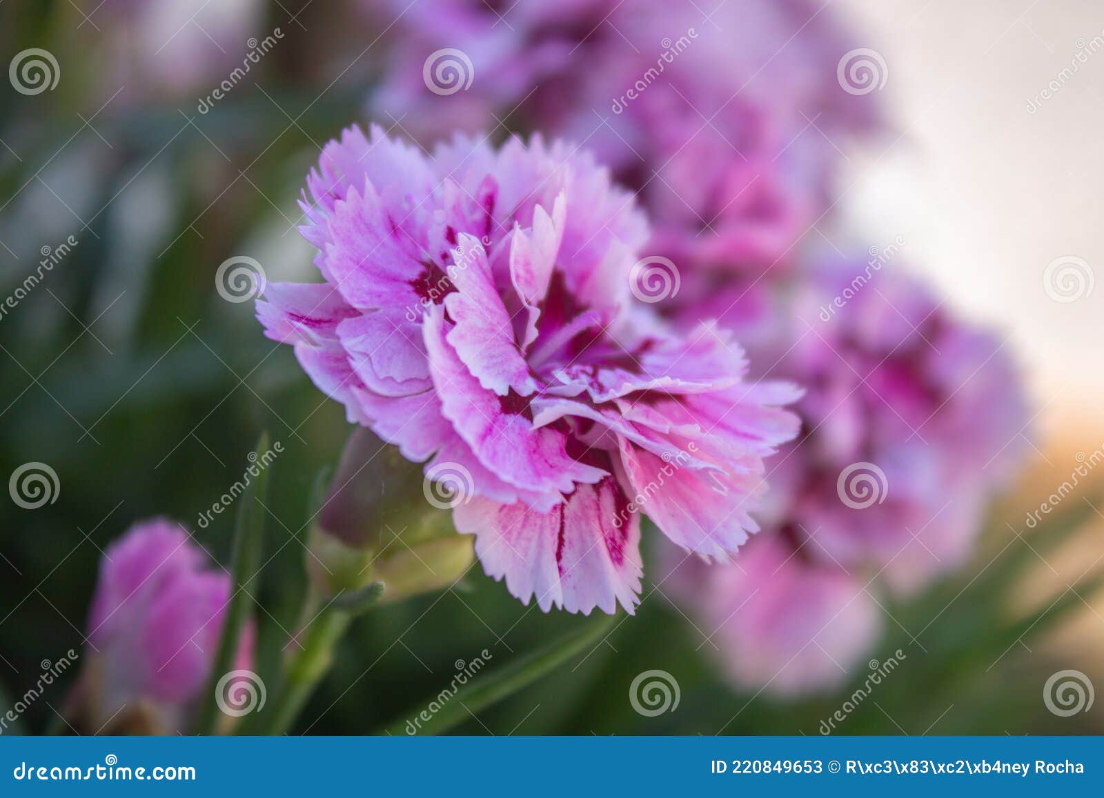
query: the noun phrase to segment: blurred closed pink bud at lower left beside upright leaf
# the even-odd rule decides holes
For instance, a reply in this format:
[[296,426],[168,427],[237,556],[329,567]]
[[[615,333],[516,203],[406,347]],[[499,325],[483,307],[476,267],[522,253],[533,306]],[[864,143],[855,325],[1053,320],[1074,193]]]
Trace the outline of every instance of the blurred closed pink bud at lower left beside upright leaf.
[[[187,732],[211,673],[231,578],[179,524],[135,524],[108,546],[88,615],[89,658],[74,714],[88,728]],[[243,635],[238,667],[252,656]]]

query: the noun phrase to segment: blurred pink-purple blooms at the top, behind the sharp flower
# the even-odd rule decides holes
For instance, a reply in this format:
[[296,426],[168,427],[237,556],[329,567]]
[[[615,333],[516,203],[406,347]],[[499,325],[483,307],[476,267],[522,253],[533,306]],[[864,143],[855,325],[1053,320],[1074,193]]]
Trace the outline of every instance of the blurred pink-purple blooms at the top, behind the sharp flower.
[[[394,42],[376,114],[432,138],[497,118],[585,142],[640,192],[649,254],[679,268],[784,266],[827,208],[839,148],[877,128],[878,98],[837,79],[852,45],[820,2],[365,6]],[[879,65],[861,66],[877,84]]]

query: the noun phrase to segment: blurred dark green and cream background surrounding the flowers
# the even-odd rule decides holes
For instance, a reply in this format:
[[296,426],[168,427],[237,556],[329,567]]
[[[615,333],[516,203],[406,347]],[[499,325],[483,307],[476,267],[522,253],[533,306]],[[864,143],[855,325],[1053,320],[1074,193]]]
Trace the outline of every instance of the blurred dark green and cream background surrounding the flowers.
[[[0,320],[0,475],[40,461],[60,483],[56,501],[33,511],[0,501],[6,695],[32,684],[43,660],[81,648],[98,558],[132,521],[179,519],[227,561],[230,517],[208,529],[195,520],[241,477],[264,429],[287,451],[272,475],[278,521],[267,526],[257,592],[261,657],[277,658],[304,587],[311,483],[348,434],[341,408],[261,336],[252,304],[219,296],[214,274],[245,253],[269,279],[308,274],[311,251],[295,230],[302,175],[321,143],[367,119],[383,66],[372,46],[385,28],[354,2],[274,0],[255,15],[238,3],[180,3],[135,15],[140,23],[126,22],[130,6],[0,4],[2,65],[40,46],[61,72],[33,96],[0,83],[0,294],[22,284],[44,247],[77,242]],[[887,607],[893,623],[871,657],[900,648],[907,658],[839,731],[1104,731],[1104,701],[1062,717],[1042,700],[1059,670],[1104,684],[1104,603],[1072,587],[1104,556],[1098,492],[1068,500],[1092,506],[1060,545],[1032,539],[1023,523],[1078,454],[1104,443],[1104,288],[1057,302],[1042,283],[1055,258],[1104,262],[1104,53],[1092,44],[1101,38],[1104,47],[1104,9],[1090,0],[825,6],[884,56],[892,129],[846,152],[838,212],[848,241],[834,243],[864,251],[903,234],[913,267],[951,305],[1009,337],[1036,413],[1027,471],[977,556],[917,600]],[[225,63],[276,28],[272,51],[200,113]],[[358,620],[297,731],[371,732],[440,690],[456,660],[487,649],[491,664],[506,663],[578,623],[527,608],[473,571],[454,589]],[[853,689],[788,702],[737,693],[710,649],[657,594],[597,649],[459,731],[816,734]],[[629,684],[649,669],[677,678],[677,711],[633,710]],[[35,702],[24,726],[55,725],[65,689],[63,680]]]

